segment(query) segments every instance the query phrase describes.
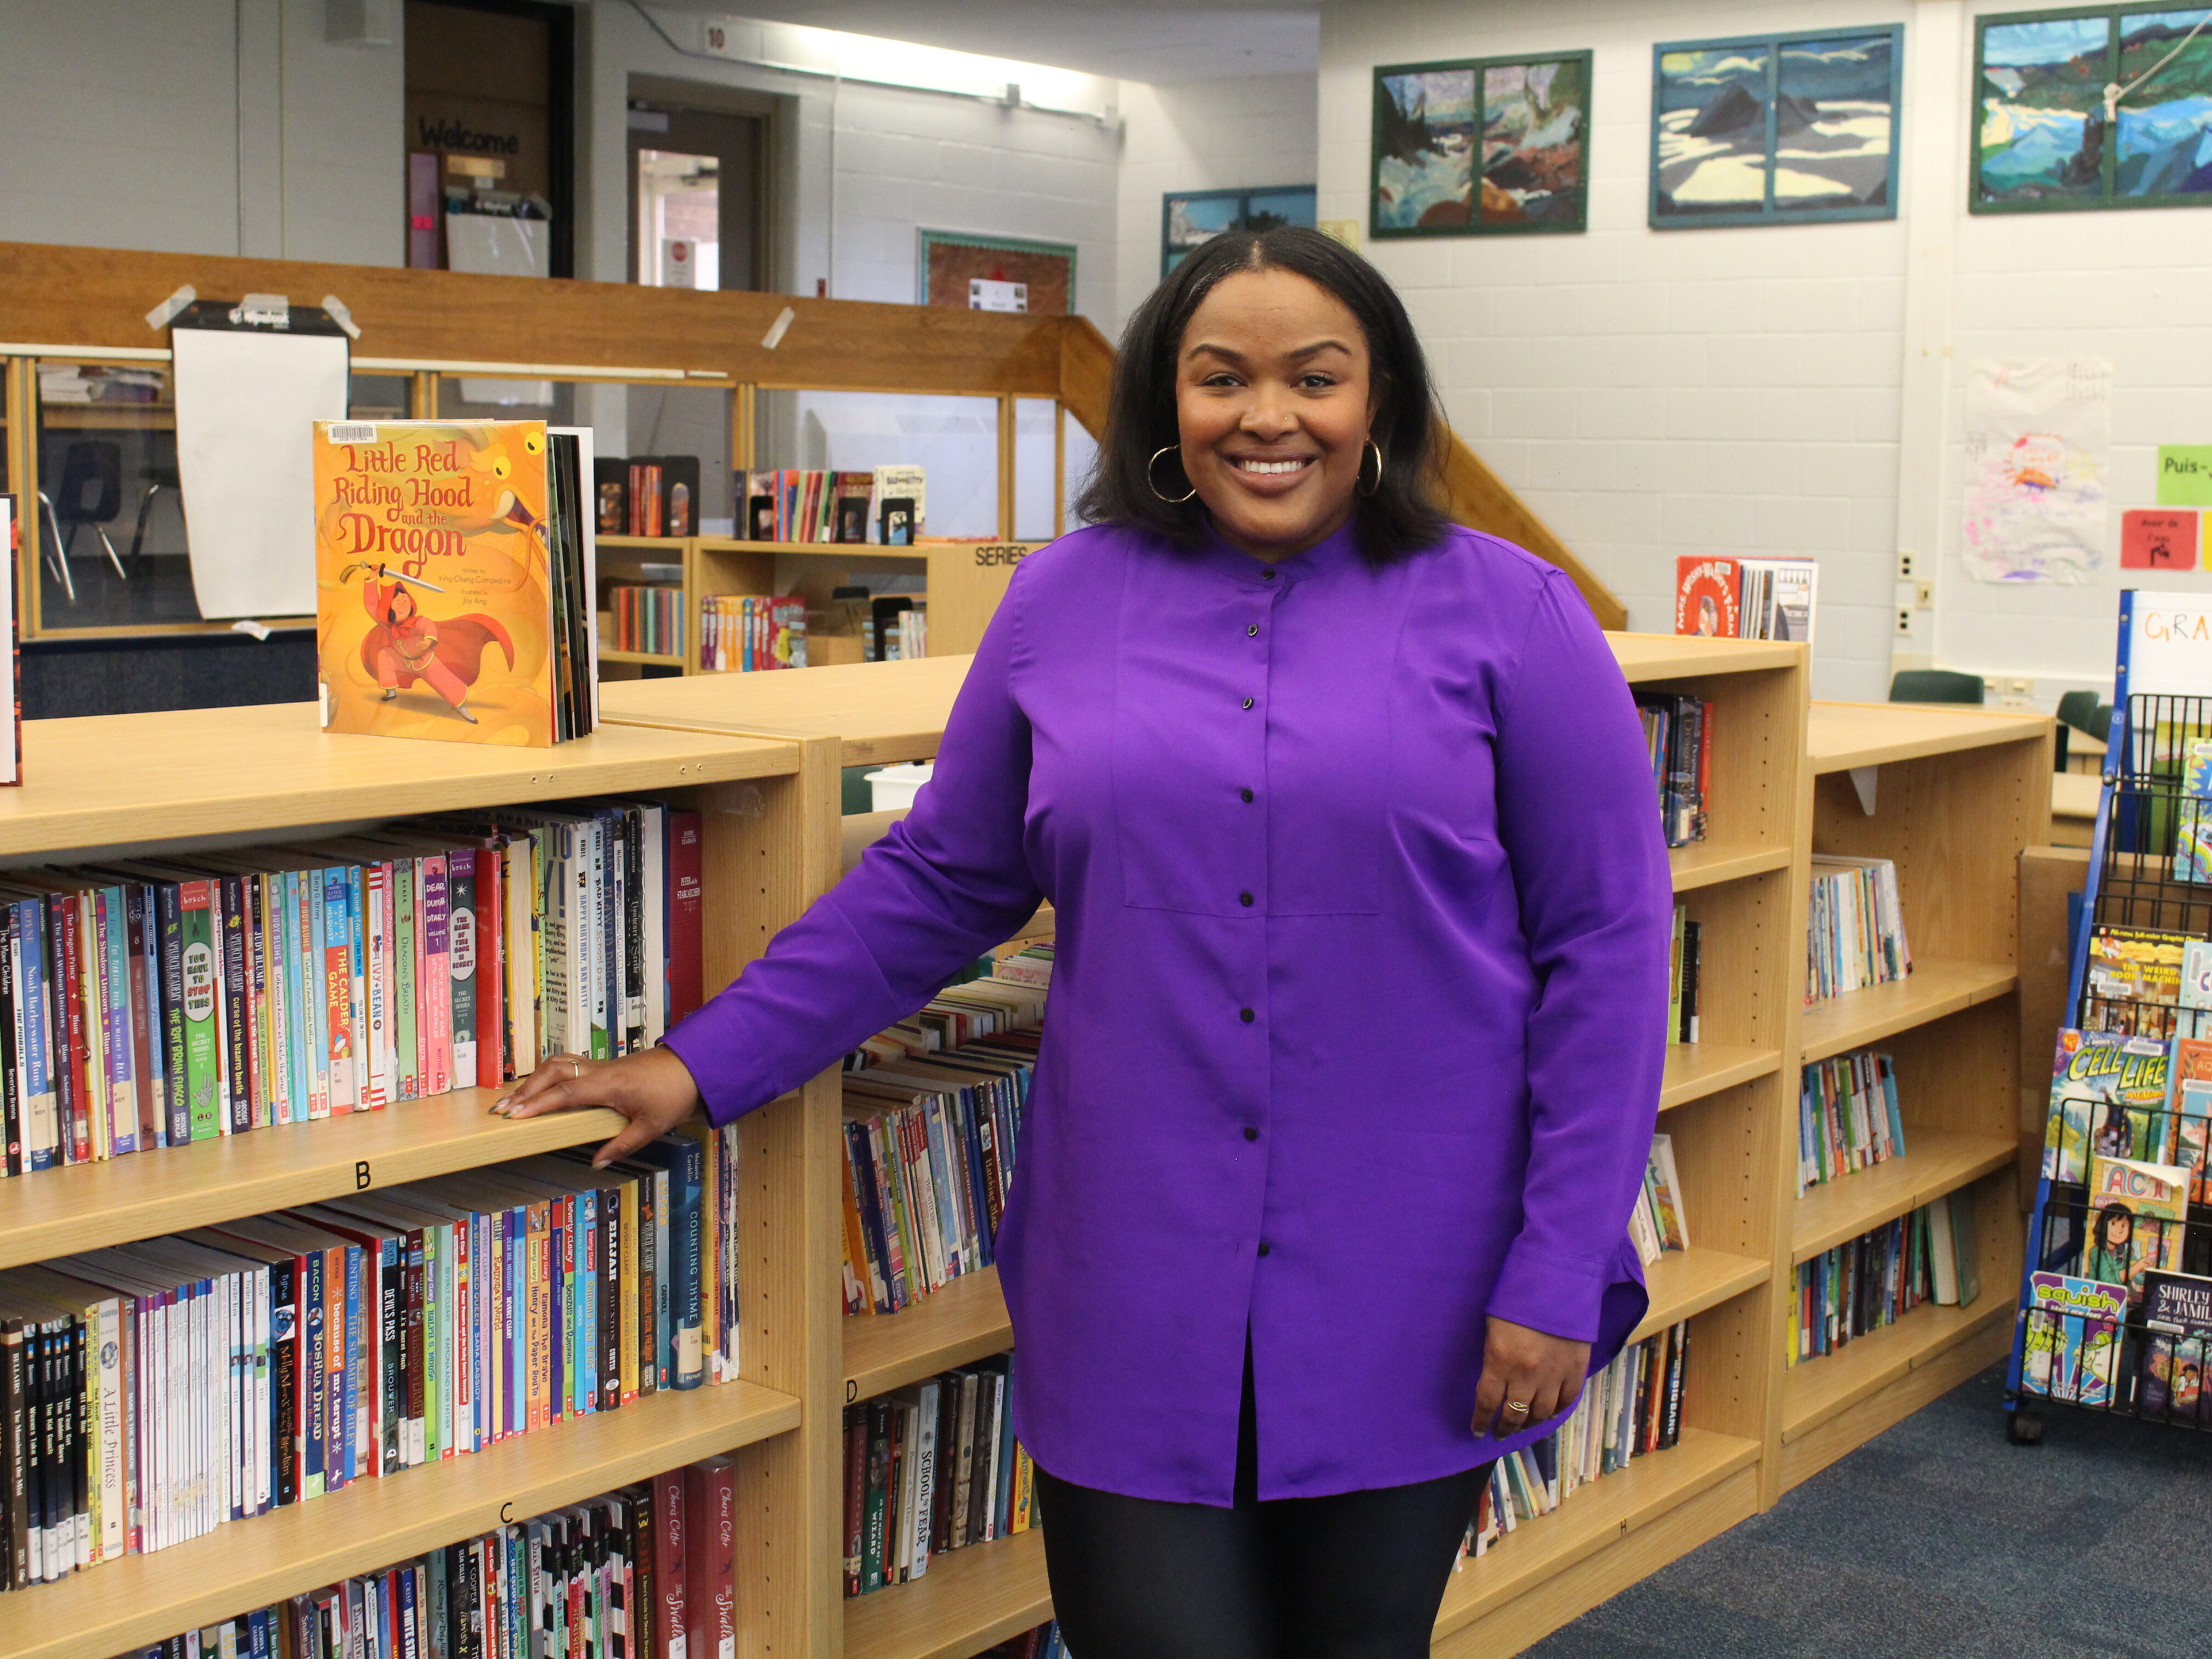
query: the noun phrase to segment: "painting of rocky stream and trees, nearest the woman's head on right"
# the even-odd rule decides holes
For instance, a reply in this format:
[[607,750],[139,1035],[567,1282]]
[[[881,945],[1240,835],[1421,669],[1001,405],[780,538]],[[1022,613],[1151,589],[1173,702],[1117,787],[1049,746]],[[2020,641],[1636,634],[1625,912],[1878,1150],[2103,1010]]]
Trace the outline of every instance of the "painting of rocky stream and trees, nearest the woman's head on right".
[[1376,71],[1371,237],[1582,230],[1590,53]]

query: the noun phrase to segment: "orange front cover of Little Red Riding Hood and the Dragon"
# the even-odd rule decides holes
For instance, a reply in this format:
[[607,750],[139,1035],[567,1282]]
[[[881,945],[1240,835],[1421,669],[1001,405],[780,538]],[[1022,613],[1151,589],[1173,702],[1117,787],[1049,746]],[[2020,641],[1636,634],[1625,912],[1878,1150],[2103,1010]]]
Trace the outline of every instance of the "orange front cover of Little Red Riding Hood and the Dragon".
[[316,420],[323,726],[553,745],[542,420]]

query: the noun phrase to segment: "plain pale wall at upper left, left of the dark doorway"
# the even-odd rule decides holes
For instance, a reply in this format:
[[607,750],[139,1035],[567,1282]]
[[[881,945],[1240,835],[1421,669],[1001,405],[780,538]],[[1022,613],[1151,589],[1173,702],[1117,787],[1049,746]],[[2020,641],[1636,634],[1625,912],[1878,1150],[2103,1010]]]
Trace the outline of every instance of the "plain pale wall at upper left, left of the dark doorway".
[[0,239],[396,265],[403,93],[323,0],[7,0]]

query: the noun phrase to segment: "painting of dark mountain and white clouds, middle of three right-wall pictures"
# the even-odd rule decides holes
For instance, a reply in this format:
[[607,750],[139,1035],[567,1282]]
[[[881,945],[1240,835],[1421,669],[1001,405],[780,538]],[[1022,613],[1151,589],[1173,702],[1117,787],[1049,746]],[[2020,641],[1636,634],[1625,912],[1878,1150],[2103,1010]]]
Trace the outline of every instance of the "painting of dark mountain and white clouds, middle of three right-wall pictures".
[[1898,217],[1902,24],[1652,49],[1652,230]]

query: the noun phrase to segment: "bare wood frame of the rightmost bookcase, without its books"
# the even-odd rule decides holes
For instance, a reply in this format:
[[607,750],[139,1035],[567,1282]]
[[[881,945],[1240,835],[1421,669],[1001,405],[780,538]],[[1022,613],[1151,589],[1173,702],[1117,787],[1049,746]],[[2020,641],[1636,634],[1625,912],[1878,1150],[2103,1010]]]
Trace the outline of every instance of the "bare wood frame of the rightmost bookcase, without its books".
[[2004,1290],[2020,1281],[2022,1250],[2015,885],[2020,849],[2048,838],[2051,732],[2042,714],[1812,706],[1812,849],[1896,860],[1913,971],[1807,1009],[1803,1060],[1887,1048],[1907,1155],[1803,1197],[1792,1161],[1785,1265],[1971,1186],[1982,1294],[1966,1307],[1924,1303],[1790,1367],[1774,1491],[1964,1383],[2011,1340]]

